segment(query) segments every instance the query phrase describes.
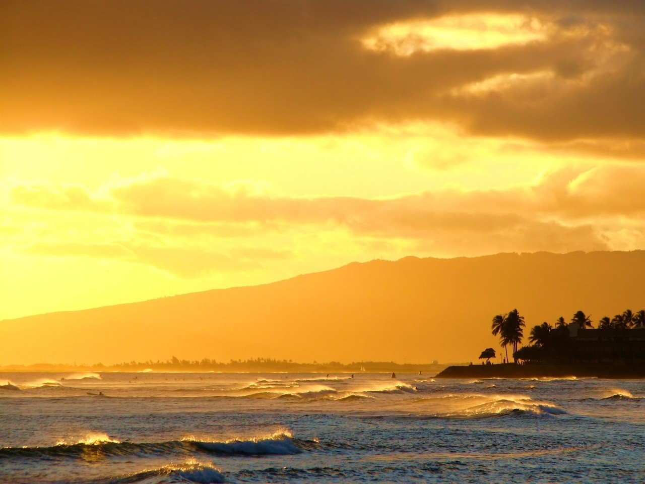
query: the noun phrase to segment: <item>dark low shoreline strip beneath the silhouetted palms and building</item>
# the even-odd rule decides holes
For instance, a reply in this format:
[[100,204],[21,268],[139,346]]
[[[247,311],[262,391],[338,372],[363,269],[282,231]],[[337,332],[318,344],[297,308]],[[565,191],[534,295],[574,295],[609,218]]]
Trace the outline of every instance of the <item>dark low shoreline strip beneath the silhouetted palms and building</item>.
[[434,378],[645,378],[645,365],[497,365],[451,366]]

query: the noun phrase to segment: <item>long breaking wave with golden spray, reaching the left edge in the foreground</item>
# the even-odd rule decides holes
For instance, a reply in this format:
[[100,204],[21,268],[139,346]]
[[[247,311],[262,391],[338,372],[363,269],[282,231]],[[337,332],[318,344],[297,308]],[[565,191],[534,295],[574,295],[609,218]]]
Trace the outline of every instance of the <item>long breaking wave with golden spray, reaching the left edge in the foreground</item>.
[[2,447],[0,459],[11,458],[69,458],[86,459],[122,456],[158,456],[179,455],[294,455],[308,450],[324,449],[317,440],[293,438],[288,430],[279,430],[273,434],[249,439],[230,439],[226,441],[205,441],[184,438],[166,442],[118,441],[106,434],[91,434],[77,441],[59,440],[51,447]]

